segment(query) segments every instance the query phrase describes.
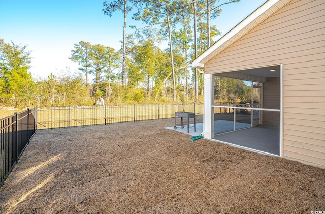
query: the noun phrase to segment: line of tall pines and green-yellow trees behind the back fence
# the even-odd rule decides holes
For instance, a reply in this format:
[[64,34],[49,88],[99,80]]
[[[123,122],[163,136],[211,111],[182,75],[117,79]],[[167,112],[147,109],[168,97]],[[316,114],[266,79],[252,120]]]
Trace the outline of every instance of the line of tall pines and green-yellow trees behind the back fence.
[[[105,1],[105,15],[112,16],[116,11],[124,14],[121,50],[79,41],[69,57],[79,65],[80,73],[74,75],[67,68],[59,75],[51,73],[44,79],[32,79],[27,46],[0,40],[0,103],[89,105],[99,98],[104,98],[106,104],[202,102],[203,76],[189,63],[221,34],[215,25],[210,26],[210,20],[220,15],[222,5],[238,1]],[[131,12],[132,18],[146,23],[146,27],[132,26],[133,33],[127,34],[126,17]],[[161,49],[164,42],[168,48]],[[222,81],[223,85],[231,84],[229,80]],[[220,101],[249,96],[243,81],[234,81],[237,92],[224,90]]]

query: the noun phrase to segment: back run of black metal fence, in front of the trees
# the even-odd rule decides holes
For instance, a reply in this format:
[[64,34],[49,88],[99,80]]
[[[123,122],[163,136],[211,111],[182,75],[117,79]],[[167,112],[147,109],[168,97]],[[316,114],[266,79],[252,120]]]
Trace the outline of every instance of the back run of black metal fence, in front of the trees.
[[203,114],[203,104],[134,104],[38,107],[38,129],[69,128],[175,117],[175,111]]

